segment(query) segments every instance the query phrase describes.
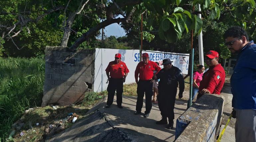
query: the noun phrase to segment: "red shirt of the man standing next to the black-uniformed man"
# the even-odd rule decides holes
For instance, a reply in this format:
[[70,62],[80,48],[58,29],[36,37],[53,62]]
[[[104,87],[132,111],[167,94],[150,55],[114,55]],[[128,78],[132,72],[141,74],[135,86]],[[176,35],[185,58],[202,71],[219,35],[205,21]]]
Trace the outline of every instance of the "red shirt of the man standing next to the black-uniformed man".
[[161,70],[157,63],[148,61],[145,65],[143,62],[139,62],[135,69],[135,81],[138,81],[138,76],[140,80],[152,79],[154,70],[157,71],[157,73]]

